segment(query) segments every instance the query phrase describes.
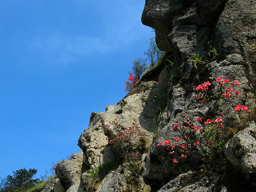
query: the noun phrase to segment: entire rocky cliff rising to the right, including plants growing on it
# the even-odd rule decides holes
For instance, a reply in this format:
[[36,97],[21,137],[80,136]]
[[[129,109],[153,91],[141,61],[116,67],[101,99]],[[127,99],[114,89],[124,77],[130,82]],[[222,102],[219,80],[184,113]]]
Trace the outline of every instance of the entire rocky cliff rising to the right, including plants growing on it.
[[[82,152],[58,164],[51,190],[255,191],[255,1],[146,0],[141,20],[155,29],[156,43],[166,51],[161,64],[116,105],[92,113],[89,128],[78,140]],[[239,93],[232,95],[228,86],[235,81]],[[202,87],[207,90],[202,92]],[[249,112],[242,112],[242,106]],[[241,110],[235,112],[235,107]],[[230,132],[221,129],[221,121]],[[217,124],[211,130],[207,122]],[[181,137],[178,127],[196,143]],[[143,136],[136,139],[139,131]],[[222,131],[224,137],[218,133]],[[134,140],[120,144],[127,132]],[[180,151],[173,153],[173,146]]]

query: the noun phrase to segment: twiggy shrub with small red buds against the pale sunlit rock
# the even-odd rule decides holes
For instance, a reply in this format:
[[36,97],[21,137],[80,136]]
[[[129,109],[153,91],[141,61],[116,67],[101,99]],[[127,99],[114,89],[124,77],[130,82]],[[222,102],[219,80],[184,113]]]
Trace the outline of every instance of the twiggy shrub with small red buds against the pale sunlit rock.
[[138,150],[140,144],[146,140],[146,133],[139,126],[131,126],[122,128],[118,124],[118,120],[109,121],[109,124],[102,126],[108,135],[106,139],[109,144],[119,150],[124,158],[126,158],[131,151]]

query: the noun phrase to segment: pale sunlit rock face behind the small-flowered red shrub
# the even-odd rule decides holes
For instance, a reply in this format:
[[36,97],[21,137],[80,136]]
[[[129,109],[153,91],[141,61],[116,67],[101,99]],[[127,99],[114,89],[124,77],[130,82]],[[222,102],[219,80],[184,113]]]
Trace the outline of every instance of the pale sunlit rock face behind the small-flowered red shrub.
[[87,169],[90,166],[97,167],[100,161],[101,163],[110,162],[116,158],[112,146],[106,140],[106,135],[109,133],[101,129],[103,125],[109,124],[109,121],[114,119],[117,119],[118,124],[122,127],[140,126],[147,133],[147,146],[151,145],[153,129],[156,128],[154,118],[159,107],[153,100],[154,95],[160,89],[162,89],[162,86],[157,82],[142,83],[116,105],[107,106],[106,112],[92,114],[89,128],[84,130],[78,140],[78,146],[86,156],[84,161],[89,165]]

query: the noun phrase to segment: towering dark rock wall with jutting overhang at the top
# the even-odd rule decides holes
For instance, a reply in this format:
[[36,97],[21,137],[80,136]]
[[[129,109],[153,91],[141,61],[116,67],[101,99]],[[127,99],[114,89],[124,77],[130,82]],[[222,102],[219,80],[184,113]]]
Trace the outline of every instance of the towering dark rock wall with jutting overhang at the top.
[[[171,169],[166,167],[172,166],[175,158],[157,143],[176,137],[171,127],[182,122],[185,116],[193,119],[211,115],[207,108],[190,106],[198,84],[215,82],[217,77],[238,80],[242,95],[224,106],[224,113],[239,103],[255,106],[255,96],[252,99],[255,93],[247,88],[256,90],[256,3],[251,0],[146,0],[141,20],[144,25],[155,28],[159,49],[171,52],[172,62],[179,69],[172,78],[170,101],[160,123],[159,135],[146,158],[143,178],[154,187],[163,186],[173,177]],[[215,59],[207,56],[209,45],[219,53]],[[191,56],[196,53],[205,60],[201,64],[191,62]],[[233,120],[238,124],[243,118],[234,114]],[[247,170],[254,167],[254,161],[250,162]]]

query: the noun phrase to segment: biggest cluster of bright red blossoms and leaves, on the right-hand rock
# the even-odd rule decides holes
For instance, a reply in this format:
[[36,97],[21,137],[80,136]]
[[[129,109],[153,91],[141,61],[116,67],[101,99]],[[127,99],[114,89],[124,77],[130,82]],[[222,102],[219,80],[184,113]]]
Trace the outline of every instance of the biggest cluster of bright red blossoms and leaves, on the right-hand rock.
[[[196,91],[198,92],[201,90],[202,94],[195,95],[194,98],[196,98],[199,103],[204,104],[208,108],[211,108],[211,104],[213,103],[215,107],[217,108],[211,108],[213,110],[216,110],[216,116],[220,117],[215,117],[215,119],[207,119],[204,121],[204,126],[200,129],[198,126],[194,126],[193,123],[188,121],[188,117],[186,116],[185,119],[186,121],[181,122],[181,123],[176,123],[173,125],[172,130],[180,131],[181,132],[181,138],[175,137],[172,140],[165,140],[163,144],[159,142],[157,146],[165,146],[167,145],[167,150],[171,150],[169,153],[173,154],[175,153],[175,149],[178,147],[178,151],[183,153],[180,158],[184,158],[187,155],[184,155],[184,153],[188,153],[187,148],[192,147],[193,145],[198,148],[198,150],[202,150],[205,153],[211,155],[212,152],[221,151],[221,143],[224,142],[222,139],[222,136],[225,134],[228,134],[229,131],[233,131],[229,127],[225,127],[224,125],[224,120],[222,119],[223,112],[219,112],[221,102],[223,100],[228,100],[229,98],[234,98],[236,95],[241,94],[239,91],[234,91],[232,85],[240,85],[238,81],[229,81],[229,79],[221,79],[217,78],[216,82],[218,82],[218,87],[219,90],[217,92],[214,92],[215,97],[210,96],[208,98],[208,95],[205,93],[206,90],[209,90],[209,86],[211,83],[207,81],[204,84],[200,84],[196,87]],[[228,85],[230,84],[230,85]],[[234,91],[234,92],[233,92]],[[214,99],[212,99],[214,98]],[[211,100],[210,100],[211,99]],[[211,103],[212,102],[212,103]],[[216,103],[219,103],[219,105],[216,105]],[[237,105],[235,107],[235,112],[237,111],[249,111],[249,109],[246,106],[241,106]],[[218,115],[217,115],[218,114]],[[198,122],[202,122],[203,117],[197,117]],[[196,132],[201,133],[201,134],[196,134]],[[196,136],[195,136],[196,135]],[[201,135],[201,136],[200,136]],[[188,142],[189,140],[189,142]],[[174,144],[177,142],[178,144]],[[188,144],[190,143],[190,144]],[[212,148],[215,148],[212,150]],[[177,151],[177,149],[176,149]],[[191,154],[193,155],[193,153]],[[206,157],[208,157],[206,156]],[[214,158],[215,154],[212,154],[211,158]],[[203,161],[206,160],[205,157],[201,158]],[[179,161],[175,158],[173,159],[173,163],[178,163]]]

